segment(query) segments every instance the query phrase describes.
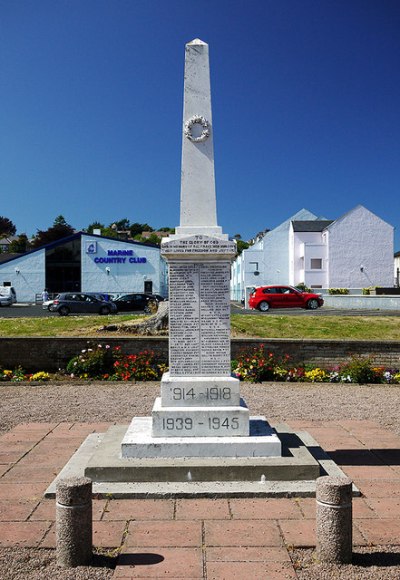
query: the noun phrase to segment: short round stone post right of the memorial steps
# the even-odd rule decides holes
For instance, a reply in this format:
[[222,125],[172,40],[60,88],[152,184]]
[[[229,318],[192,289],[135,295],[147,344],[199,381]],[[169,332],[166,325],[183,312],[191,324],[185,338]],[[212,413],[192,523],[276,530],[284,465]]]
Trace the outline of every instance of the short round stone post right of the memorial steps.
[[348,564],[352,558],[352,482],[347,477],[319,477],[317,557],[321,562]]

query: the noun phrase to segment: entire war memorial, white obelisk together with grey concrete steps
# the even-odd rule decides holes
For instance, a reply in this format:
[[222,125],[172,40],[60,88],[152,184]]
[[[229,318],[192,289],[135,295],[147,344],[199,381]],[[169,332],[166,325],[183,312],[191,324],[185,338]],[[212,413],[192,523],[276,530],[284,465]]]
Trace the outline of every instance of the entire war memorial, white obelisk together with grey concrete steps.
[[[180,223],[169,269],[169,370],[150,417],[89,435],[57,480],[113,497],[307,496],[343,472],[305,432],[251,416],[230,369],[230,263],[217,223],[208,45],[186,45]],[[265,410],[268,413],[268,409]],[[357,493],[357,490],[353,490]]]

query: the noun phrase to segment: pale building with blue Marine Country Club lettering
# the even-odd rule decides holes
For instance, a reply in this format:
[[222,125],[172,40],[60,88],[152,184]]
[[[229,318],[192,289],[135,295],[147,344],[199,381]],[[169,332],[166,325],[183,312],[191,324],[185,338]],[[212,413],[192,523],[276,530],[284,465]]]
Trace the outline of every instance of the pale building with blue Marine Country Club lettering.
[[0,285],[14,286],[18,302],[50,293],[153,292],[167,296],[160,248],[79,232],[0,263]]

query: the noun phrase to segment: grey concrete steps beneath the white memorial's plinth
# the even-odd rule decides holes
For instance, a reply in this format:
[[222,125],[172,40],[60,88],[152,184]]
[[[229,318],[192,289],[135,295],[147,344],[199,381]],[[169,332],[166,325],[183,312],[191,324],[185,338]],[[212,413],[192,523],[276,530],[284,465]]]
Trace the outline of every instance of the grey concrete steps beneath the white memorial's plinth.
[[[281,457],[126,459],[121,444],[127,428],[114,425],[106,433],[89,435],[45,497],[55,497],[58,479],[83,475],[92,480],[94,495],[114,498],[313,497],[320,475],[344,476],[308,433],[293,432],[285,424],[275,427]],[[353,494],[359,495],[354,485]]]

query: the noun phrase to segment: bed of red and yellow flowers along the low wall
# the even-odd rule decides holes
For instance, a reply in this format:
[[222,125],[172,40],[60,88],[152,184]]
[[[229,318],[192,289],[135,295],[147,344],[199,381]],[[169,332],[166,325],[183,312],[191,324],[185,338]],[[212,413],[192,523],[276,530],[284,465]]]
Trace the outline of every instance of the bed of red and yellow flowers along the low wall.
[[[13,370],[0,368],[0,382],[42,383],[50,379],[157,381],[167,368],[157,360],[151,350],[124,354],[120,346],[111,348],[109,345],[88,343],[87,348],[71,358],[66,368],[59,369],[58,373],[26,373],[20,366]],[[288,355],[277,356],[269,352],[263,344],[244,351],[232,361],[232,375],[241,381],[252,383],[290,381],[400,384],[399,369],[376,366],[370,357],[354,355],[341,365],[323,369],[306,364],[293,365]]]

